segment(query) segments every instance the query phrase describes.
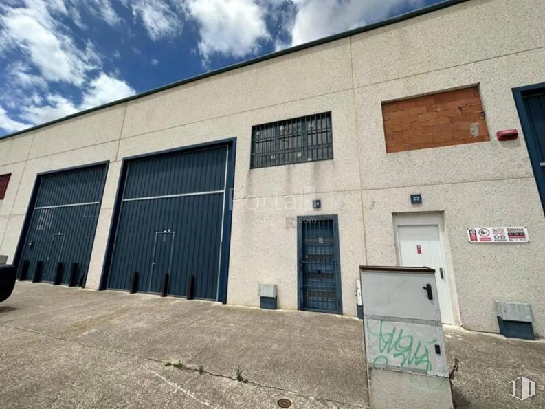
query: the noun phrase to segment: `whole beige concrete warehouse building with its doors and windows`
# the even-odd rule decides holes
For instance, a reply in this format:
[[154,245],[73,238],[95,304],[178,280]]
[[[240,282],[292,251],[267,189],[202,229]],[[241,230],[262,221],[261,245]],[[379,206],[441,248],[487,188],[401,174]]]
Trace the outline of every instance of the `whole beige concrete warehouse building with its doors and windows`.
[[359,265],[429,265],[443,322],[498,332],[496,301],[523,302],[544,336],[544,21],[447,1],[8,135],[0,254],[27,280],[253,306],[268,283],[348,316]]

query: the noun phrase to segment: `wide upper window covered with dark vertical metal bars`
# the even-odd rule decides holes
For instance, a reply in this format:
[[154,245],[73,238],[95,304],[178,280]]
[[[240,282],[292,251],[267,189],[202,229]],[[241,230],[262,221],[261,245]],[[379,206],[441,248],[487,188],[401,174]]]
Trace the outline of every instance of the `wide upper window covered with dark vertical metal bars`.
[[252,126],[251,168],[333,159],[331,112]]

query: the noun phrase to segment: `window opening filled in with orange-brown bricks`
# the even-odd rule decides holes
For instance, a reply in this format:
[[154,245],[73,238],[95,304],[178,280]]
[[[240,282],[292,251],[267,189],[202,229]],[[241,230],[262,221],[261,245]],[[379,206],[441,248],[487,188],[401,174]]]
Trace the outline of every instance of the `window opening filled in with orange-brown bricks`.
[[478,87],[382,104],[386,152],[490,140]]

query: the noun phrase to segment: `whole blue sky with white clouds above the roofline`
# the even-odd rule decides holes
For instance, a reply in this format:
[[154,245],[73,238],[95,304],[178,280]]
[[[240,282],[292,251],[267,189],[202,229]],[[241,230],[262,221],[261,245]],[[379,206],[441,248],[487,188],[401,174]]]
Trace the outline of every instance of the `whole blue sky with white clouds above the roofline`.
[[441,0],[1,0],[0,136]]

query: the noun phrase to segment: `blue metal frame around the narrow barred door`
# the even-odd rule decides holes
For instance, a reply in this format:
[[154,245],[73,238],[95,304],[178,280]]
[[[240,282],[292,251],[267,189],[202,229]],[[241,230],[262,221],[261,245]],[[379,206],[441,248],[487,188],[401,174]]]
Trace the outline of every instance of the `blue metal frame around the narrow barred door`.
[[[318,310],[307,309],[304,307],[304,295],[303,295],[303,263],[302,257],[304,253],[303,241],[302,241],[302,223],[305,221],[321,221],[330,220],[333,222],[333,254],[336,260],[335,264],[335,290],[337,296],[337,309],[333,310]],[[316,216],[298,216],[297,217],[297,304],[298,309],[304,311],[315,311],[325,313],[337,313],[342,314],[342,287],[341,287],[341,259],[340,259],[340,241],[339,241],[339,220],[337,214],[316,215]]]

